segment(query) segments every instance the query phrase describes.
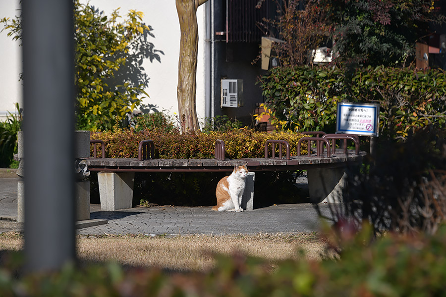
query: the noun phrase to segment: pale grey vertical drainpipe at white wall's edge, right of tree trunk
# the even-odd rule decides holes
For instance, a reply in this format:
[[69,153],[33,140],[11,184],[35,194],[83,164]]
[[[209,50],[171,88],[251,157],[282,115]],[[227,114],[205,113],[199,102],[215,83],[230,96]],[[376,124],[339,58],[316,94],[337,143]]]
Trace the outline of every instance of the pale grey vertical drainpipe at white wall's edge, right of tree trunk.
[[206,117],[211,117],[212,108],[212,99],[211,99],[211,1],[207,1],[205,3],[205,12],[206,12],[206,40],[205,40],[205,114]]

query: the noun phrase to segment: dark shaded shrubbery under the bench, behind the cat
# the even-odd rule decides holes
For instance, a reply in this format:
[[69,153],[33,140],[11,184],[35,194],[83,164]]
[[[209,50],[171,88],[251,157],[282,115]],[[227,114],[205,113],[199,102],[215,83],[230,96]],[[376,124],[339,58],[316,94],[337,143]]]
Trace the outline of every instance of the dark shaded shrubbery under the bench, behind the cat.
[[[141,200],[159,205],[216,205],[215,190],[217,183],[229,173],[137,173],[135,175],[133,205],[141,203]],[[308,192],[294,186],[296,174],[299,173],[292,171],[256,172],[254,208],[267,207],[273,204],[309,202]],[[95,188],[92,193],[96,190],[94,196],[99,201],[99,190],[96,182],[92,188]]]

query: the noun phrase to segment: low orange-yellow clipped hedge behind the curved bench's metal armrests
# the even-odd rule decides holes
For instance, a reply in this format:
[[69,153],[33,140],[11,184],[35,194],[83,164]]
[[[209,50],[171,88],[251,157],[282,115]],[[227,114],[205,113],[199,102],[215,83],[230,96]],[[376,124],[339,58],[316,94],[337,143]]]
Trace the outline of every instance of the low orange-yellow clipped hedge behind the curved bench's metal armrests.
[[[137,158],[139,142],[152,139],[157,157],[167,159],[214,158],[217,139],[224,141],[227,158],[264,157],[265,143],[269,139],[288,141],[291,155],[297,155],[297,143],[302,137],[304,135],[298,133],[266,133],[250,129],[209,133],[187,132],[184,134],[176,130],[171,132],[161,130],[135,132],[132,129],[118,129],[114,132],[91,134],[91,139],[101,139],[105,142],[106,154],[109,158]],[[306,143],[302,143],[301,153],[307,153]]]

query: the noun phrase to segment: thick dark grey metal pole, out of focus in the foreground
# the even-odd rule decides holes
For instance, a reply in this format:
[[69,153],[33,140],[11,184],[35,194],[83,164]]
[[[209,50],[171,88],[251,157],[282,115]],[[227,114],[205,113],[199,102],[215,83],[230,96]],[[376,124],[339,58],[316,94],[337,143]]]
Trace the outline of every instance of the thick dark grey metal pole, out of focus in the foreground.
[[23,0],[25,257],[29,272],[75,260],[72,0]]

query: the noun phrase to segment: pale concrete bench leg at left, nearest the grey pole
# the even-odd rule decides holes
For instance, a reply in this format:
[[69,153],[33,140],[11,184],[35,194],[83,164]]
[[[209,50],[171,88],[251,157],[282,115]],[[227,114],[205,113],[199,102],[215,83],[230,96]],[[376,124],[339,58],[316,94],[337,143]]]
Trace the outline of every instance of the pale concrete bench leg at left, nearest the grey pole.
[[102,210],[132,207],[134,172],[98,172]]

